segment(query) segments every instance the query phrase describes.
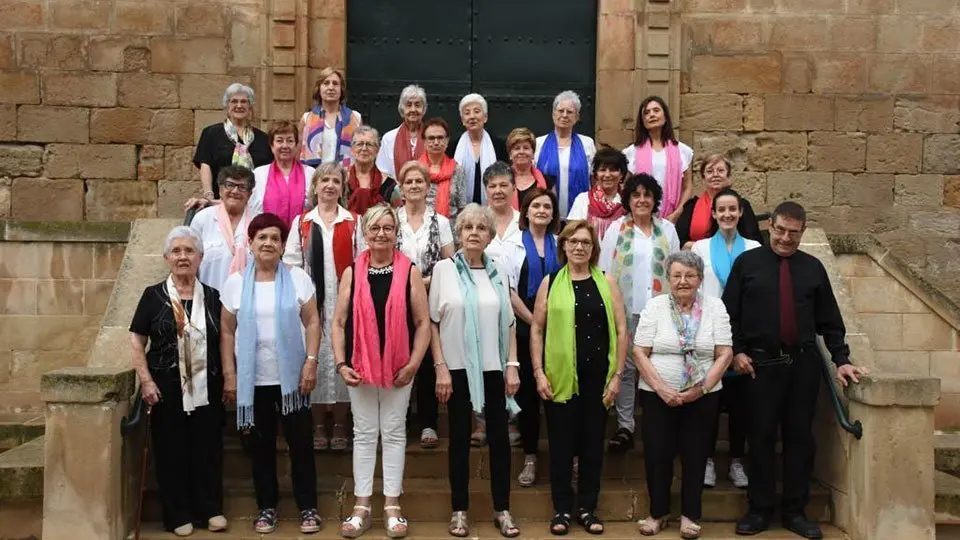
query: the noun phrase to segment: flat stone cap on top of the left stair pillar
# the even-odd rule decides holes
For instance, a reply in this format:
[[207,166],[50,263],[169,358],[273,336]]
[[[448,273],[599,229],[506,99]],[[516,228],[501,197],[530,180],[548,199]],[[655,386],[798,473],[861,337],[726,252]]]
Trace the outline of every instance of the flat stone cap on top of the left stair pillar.
[[120,402],[128,400],[133,389],[129,367],[68,367],[40,378],[41,398],[47,403]]

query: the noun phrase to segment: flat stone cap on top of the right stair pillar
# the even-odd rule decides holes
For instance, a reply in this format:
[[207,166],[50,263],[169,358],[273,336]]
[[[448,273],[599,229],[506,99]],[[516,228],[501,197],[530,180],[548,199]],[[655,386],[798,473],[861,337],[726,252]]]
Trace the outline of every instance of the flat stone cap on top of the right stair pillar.
[[900,373],[871,373],[846,389],[850,401],[876,407],[934,407],[940,379]]

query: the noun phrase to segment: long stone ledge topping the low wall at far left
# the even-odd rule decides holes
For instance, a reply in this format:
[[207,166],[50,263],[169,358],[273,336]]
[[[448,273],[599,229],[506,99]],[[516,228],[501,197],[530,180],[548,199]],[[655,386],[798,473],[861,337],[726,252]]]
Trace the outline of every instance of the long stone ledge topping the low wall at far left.
[[129,222],[123,221],[20,221],[0,224],[7,242],[126,242]]

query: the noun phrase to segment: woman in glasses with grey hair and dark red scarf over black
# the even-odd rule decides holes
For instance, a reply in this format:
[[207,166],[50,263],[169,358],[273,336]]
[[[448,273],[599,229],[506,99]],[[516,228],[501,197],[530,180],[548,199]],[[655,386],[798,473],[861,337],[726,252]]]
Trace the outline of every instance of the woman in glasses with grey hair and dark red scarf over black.
[[400,190],[393,177],[384,178],[374,163],[380,148],[380,134],[370,126],[360,126],[353,132],[354,162],[347,169],[345,190],[346,207],[357,215],[381,203],[398,205]]

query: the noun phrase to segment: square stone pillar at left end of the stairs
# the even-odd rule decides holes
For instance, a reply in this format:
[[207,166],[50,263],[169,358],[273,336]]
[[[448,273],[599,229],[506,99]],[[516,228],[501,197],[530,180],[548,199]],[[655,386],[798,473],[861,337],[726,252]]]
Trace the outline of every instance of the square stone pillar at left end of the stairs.
[[44,540],[127,535],[120,419],[134,388],[129,368],[65,368],[43,375],[46,402]]

